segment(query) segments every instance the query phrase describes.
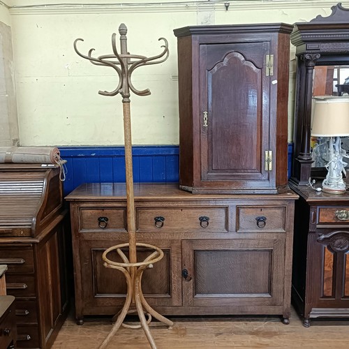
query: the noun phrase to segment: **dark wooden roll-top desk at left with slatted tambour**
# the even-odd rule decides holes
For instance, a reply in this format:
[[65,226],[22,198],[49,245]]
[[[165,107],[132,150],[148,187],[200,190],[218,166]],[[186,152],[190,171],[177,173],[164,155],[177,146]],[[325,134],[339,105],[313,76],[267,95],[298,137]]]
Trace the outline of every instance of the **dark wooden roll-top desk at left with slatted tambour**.
[[66,213],[57,166],[0,164],[0,263],[17,348],[50,348],[68,312]]

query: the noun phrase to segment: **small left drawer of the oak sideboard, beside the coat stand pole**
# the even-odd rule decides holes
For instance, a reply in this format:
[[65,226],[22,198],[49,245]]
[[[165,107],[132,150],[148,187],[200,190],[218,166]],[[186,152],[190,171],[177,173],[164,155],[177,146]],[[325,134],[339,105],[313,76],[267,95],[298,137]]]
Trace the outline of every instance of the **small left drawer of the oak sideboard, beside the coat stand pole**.
[[79,231],[126,232],[126,207],[80,207]]

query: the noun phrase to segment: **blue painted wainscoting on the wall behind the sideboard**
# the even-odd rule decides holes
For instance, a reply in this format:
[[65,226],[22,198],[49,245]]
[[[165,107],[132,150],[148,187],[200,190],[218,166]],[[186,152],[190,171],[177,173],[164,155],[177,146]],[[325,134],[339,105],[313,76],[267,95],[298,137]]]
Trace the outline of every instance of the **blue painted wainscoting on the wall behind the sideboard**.
[[[124,182],[124,147],[59,147],[66,163],[64,195],[86,182]],[[133,181],[178,182],[179,146],[133,146]],[[292,144],[288,146],[290,177]]]

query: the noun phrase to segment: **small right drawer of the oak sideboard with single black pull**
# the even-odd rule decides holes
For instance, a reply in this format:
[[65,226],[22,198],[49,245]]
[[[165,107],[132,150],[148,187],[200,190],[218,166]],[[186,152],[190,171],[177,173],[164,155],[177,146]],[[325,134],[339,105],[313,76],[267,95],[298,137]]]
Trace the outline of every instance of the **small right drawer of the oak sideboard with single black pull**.
[[285,232],[286,207],[237,206],[237,232]]

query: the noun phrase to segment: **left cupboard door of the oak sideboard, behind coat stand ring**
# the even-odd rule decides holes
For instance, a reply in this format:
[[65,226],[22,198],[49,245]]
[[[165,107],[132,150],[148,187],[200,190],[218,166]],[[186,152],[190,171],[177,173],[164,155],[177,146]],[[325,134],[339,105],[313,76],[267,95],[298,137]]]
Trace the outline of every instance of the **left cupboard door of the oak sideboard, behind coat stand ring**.
[[[107,306],[123,306],[126,298],[126,279],[116,269],[103,266],[103,252],[106,248],[123,242],[85,240],[80,242],[80,261],[82,265],[82,313],[107,314],[115,309]],[[142,291],[151,306],[178,306],[181,304],[181,247],[180,242],[151,242],[163,250],[164,257],[146,269],[142,276]],[[122,248],[121,248],[122,249]],[[123,250],[124,251],[124,250]],[[138,248],[138,261],[144,260],[154,251]],[[127,248],[124,253],[128,255]],[[107,257],[115,262],[122,262],[116,251]],[[98,309],[99,307],[99,309]],[[103,308],[104,307],[104,308]]]

